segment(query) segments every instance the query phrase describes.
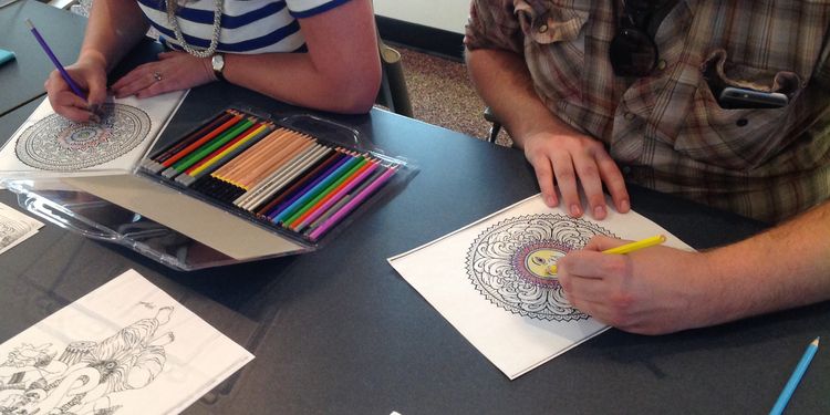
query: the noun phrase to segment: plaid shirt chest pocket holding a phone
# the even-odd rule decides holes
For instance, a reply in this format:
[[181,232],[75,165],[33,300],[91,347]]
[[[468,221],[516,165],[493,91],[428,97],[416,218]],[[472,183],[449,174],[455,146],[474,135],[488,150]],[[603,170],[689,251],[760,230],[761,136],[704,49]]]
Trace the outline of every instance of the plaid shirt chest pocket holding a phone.
[[[723,108],[716,94],[724,86],[780,92],[789,104],[779,108]],[[750,170],[788,144],[787,131],[796,118],[801,80],[790,71],[769,71],[730,64],[723,50],[701,68],[697,89],[674,149],[698,162],[733,170]]]

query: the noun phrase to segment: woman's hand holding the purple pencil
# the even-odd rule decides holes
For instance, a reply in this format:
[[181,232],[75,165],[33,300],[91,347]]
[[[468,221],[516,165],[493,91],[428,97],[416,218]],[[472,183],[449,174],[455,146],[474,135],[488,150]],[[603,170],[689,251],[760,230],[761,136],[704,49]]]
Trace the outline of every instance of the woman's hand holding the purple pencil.
[[100,122],[97,108],[106,100],[106,62],[93,53],[82,54],[66,66],[73,81],[86,91],[86,98],[75,95],[61,73],[52,71],[43,84],[55,113],[79,123]]

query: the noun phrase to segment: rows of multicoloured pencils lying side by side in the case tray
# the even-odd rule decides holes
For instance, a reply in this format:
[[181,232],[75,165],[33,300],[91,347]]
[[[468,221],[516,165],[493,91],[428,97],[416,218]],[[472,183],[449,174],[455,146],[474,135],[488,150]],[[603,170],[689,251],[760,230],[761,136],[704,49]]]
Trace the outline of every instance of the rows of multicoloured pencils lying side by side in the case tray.
[[146,173],[311,241],[400,168],[239,110],[224,111],[142,163]]

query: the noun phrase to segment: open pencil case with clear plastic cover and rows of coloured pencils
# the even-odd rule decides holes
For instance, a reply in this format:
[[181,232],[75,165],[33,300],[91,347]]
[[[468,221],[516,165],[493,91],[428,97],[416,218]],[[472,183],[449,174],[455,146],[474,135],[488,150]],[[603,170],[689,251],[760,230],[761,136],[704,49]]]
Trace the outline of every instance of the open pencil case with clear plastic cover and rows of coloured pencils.
[[53,224],[195,270],[319,249],[416,172],[331,120],[231,105],[163,135],[132,174],[8,186]]

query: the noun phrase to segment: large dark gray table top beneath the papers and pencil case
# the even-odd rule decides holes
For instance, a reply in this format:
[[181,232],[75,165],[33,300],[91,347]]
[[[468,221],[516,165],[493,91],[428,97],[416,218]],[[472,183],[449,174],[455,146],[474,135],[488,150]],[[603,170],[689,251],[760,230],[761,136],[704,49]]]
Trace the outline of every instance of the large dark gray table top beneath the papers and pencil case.
[[[212,84],[191,91],[163,141],[231,104],[304,112]],[[195,272],[49,225],[0,256],[0,341],[134,268],[257,356],[188,414],[712,414],[768,412],[806,345],[830,338],[830,303],[664,336],[610,330],[511,382],[386,258],[537,193],[522,153],[380,110],[322,115],[418,174],[315,252]],[[646,189],[631,195],[636,211],[698,249],[762,228]],[[788,412],[830,413],[827,391],[821,349]]]

